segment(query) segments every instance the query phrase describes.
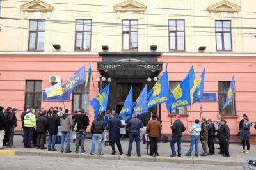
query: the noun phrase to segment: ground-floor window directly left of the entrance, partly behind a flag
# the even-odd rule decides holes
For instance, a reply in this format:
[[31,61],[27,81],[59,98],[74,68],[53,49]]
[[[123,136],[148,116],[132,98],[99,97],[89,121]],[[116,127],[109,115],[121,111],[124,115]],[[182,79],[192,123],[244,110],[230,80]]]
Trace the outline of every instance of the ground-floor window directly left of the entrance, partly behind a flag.
[[85,83],[74,88],[72,95],[72,111],[84,109],[85,112],[89,112],[89,89],[89,85],[85,88]]

